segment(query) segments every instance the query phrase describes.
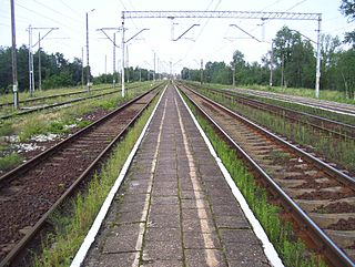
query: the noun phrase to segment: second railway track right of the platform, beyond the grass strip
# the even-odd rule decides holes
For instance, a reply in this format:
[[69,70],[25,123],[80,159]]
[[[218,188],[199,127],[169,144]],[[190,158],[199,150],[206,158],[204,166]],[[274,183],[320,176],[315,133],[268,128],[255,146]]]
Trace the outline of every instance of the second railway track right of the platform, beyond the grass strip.
[[355,141],[355,125],[337,122],[334,120],[328,120],[322,116],[313,115],[305,112],[298,112],[287,107],[261,102],[257,100],[252,100],[241,94],[236,95],[231,91],[221,91],[209,89],[209,93],[223,96],[230,101],[237,102],[242,105],[247,105],[253,109],[257,109],[264,112],[268,112],[278,116],[282,116],[291,122],[296,122],[305,124],[316,129],[326,134],[332,134],[335,138],[353,140]]

